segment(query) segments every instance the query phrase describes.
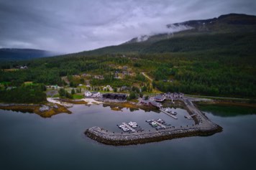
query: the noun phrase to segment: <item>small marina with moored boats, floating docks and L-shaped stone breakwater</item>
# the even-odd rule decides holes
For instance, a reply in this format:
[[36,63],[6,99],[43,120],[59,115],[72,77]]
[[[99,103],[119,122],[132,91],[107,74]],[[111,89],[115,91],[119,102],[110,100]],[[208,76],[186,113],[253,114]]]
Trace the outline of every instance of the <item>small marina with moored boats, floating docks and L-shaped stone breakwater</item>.
[[[135,129],[131,127],[135,126],[134,123],[130,122],[130,124],[122,123],[122,125],[119,127],[123,128],[123,131],[129,133],[111,133],[104,128],[94,126],[88,128],[85,131],[85,134],[89,138],[92,138],[93,140],[99,141],[101,143],[114,146],[124,146],[138,143],[163,141],[172,138],[183,138],[188,136],[211,136],[214,133],[219,133],[222,131],[221,126],[218,126],[206,118],[206,116],[193,105],[191,100],[180,100],[187,106],[187,111],[191,118],[191,115],[193,115],[195,124],[190,126],[188,126],[188,124],[186,126],[170,126],[166,125],[165,121],[157,119],[146,121],[147,123],[150,123],[153,128],[155,128],[155,131],[135,131]],[[178,119],[175,115],[171,114],[172,112],[169,109],[164,110],[162,107],[160,107],[160,111],[166,115],[169,115],[175,120]],[[187,116],[187,118],[189,117]],[[166,126],[168,126],[168,128]]]

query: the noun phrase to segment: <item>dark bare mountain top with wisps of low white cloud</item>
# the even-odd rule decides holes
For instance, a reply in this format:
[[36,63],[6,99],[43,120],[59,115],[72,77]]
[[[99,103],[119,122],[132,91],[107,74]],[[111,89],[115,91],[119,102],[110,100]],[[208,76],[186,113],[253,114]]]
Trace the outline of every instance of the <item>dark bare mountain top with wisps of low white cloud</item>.
[[256,16],[247,14],[225,14],[213,19],[191,20],[167,24],[166,27],[169,29],[168,32],[163,34],[141,35],[124,44],[134,42],[156,42],[161,39],[168,39],[174,35],[184,36],[204,32],[243,32],[249,29],[249,27],[251,27],[250,32],[255,32]]

